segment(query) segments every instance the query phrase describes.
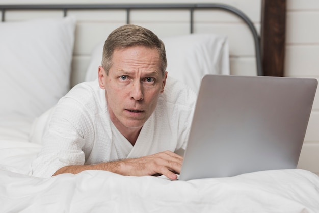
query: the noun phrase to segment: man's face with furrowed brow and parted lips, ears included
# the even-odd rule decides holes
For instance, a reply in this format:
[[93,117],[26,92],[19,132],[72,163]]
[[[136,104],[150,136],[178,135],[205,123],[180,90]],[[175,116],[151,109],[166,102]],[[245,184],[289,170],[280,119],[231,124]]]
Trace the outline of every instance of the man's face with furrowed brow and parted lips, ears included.
[[167,78],[159,65],[156,49],[133,46],[114,51],[108,75],[99,67],[99,85],[105,89],[111,120],[120,131],[141,129],[155,110]]

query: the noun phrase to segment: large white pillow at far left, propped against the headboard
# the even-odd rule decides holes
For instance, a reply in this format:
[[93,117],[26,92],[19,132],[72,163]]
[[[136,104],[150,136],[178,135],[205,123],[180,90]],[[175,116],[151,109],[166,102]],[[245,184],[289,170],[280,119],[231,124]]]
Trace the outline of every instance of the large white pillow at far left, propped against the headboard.
[[75,22],[0,24],[0,117],[35,118],[68,92]]

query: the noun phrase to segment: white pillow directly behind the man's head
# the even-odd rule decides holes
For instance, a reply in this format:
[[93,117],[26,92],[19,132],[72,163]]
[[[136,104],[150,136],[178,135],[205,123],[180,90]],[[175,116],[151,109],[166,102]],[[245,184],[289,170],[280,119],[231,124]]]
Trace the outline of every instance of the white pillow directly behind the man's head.
[[[198,92],[201,78],[206,74],[229,74],[229,49],[226,36],[191,34],[161,38],[165,44],[168,75],[179,79]],[[85,81],[97,78],[102,61],[103,43],[91,55]]]

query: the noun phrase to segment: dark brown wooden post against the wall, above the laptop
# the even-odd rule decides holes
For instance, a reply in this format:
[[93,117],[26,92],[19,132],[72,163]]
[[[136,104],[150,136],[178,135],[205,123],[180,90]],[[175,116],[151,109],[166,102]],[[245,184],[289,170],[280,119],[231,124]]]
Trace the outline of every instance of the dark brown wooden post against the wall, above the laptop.
[[262,0],[261,58],[266,76],[284,76],[286,0]]

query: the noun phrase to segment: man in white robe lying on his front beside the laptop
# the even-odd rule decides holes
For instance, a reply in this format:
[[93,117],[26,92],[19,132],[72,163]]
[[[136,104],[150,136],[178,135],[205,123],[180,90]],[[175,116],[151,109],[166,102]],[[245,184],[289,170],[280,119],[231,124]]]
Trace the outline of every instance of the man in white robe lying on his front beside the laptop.
[[174,151],[185,148],[196,95],[166,67],[154,33],[129,24],[114,30],[98,81],[75,86],[55,107],[33,175],[94,169],[176,179],[183,158]]

